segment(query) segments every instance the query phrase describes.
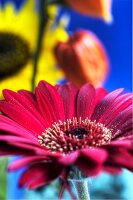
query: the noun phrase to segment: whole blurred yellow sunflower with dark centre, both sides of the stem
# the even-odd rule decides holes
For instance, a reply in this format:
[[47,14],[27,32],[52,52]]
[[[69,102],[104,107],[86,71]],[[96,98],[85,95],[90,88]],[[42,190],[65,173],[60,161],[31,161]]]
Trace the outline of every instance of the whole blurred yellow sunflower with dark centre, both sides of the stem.
[[[55,60],[51,55],[53,54],[51,48],[57,39],[66,40],[67,34],[64,26],[59,25],[58,28],[57,25],[52,41],[49,39],[53,34],[53,29],[50,27],[55,23],[57,12],[58,9],[55,6],[48,8],[48,14],[52,16],[52,20],[48,21],[46,27],[45,41],[48,40],[48,42],[43,47],[39,58],[36,82],[45,78],[49,82],[55,83],[62,76],[58,69],[54,69]],[[33,54],[36,48],[39,24],[39,13],[35,9],[35,2],[26,1],[19,11],[15,10],[13,4],[7,3],[4,8],[0,8],[0,19],[2,19],[0,23],[0,90],[3,88],[15,91],[20,88],[30,90]],[[45,50],[49,52],[45,54]],[[44,69],[45,67],[47,68]],[[52,73],[54,76],[51,75]],[[1,96],[0,93],[0,98]]]

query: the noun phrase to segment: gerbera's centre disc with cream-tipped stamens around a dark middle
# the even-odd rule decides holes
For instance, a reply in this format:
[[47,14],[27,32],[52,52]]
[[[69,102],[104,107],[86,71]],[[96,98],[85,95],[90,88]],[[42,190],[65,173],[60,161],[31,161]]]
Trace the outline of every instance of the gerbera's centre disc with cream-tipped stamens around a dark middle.
[[38,140],[51,152],[67,154],[77,149],[108,144],[111,138],[111,130],[103,124],[80,117],[52,124]]

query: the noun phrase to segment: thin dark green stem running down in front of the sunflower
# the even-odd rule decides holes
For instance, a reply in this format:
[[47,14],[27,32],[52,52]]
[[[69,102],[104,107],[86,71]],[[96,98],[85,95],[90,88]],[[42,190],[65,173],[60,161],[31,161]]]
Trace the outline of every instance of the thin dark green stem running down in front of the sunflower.
[[34,91],[34,88],[35,88],[35,79],[36,79],[36,73],[37,73],[38,58],[39,58],[40,51],[41,51],[43,33],[44,33],[44,30],[45,30],[45,27],[46,27],[46,24],[48,21],[46,0],[40,0],[39,13],[40,13],[40,24],[39,24],[37,47],[36,47],[36,52],[35,52],[35,56],[34,56],[34,66],[33,66],[33,75],[32,75],[32,91]]

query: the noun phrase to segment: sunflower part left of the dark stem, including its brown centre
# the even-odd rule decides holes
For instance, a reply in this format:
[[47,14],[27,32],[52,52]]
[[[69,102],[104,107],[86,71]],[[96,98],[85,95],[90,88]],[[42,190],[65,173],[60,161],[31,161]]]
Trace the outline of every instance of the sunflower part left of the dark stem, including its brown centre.
[[0,8],[0,19],[0,89],[30,89],[39,20],[34,1],[26,1],[18,11],[13,4],[5,4]]

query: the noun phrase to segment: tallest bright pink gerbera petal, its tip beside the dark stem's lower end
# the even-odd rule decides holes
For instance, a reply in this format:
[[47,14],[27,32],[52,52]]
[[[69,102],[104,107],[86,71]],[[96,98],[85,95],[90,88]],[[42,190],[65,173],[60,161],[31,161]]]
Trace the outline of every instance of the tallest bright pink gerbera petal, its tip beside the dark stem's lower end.
[[56,119],[65,120],[63,102],[55,87],[45,81],[41,81],[38,84],[37,90],[43,94],[45,102],[51,104],[52,110],[55,112]]

